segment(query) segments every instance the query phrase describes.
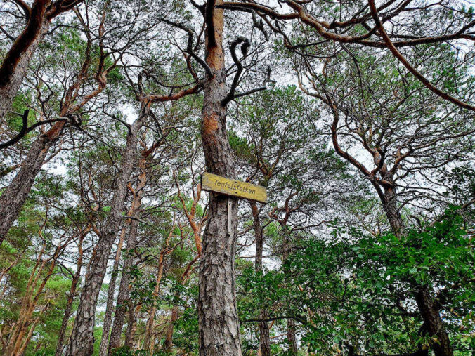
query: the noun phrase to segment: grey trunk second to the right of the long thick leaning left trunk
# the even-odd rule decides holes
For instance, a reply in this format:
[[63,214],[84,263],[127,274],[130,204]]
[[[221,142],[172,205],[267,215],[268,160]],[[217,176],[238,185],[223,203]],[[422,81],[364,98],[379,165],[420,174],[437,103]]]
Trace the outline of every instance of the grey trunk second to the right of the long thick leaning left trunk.
[[[136,246],[137,228],[138,228],[138,221],[132,220],[131,225],[130,225],[129,237],[127,238],[126,249],[128,251],[131,249],[134,249],[134,247]],[[127,312],[128,301],[130,298],[130,293],[129,293],[130,273],[129,272],[130,272],[130,268],[132,267],[133,262],[134,262],[133,256],[126,256],[125,261],[124,261],[124,266],[122,268],[122,277],[120,279],[119,294],[117,295],[117,307],[115,308],[114,324],[112,325],[112,331],[110,332],[109,355],[115,348],[119,348],[120,346],[120,336],[122,335],[122,327],[124,326],[125,314]]]

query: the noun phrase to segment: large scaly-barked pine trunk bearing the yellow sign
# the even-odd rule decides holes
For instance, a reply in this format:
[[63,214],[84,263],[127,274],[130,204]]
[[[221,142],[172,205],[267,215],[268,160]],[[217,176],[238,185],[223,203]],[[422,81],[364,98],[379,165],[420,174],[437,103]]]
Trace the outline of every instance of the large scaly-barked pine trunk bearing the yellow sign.
[[[222,0],[216,0],[216,5]],[[207,171],[235,178],[233,154],[226,133],[226,70],[223,53],[223,10],[208,1],[202,144]],[[228,212],[228,199],[230,211]],[[230,234],[227,233],[230,213]],[[201,356],[240,356],[239,318],[235,297],[237,200],[210,193],[209,219],[204,230],[198,296]]]

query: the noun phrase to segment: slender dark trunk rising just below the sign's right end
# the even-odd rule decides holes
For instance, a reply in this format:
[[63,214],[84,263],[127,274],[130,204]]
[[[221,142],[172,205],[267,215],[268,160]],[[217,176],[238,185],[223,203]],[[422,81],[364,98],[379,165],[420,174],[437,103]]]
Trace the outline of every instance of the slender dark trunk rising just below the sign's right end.
[[[263,230],[261,219],[259,218],[259,210],[257,204],[251,202],[252,218],[254,221],[254,235],[256,236],[256,272],[263,272],[262,268],[262,253],[263,253]],[[265,309],[261,310],[260,319],[266,319],[268,313]],[[259,322],[259,350],[261,356],[271,356],[271,339],[269,338],[269,328],[267,322]]]

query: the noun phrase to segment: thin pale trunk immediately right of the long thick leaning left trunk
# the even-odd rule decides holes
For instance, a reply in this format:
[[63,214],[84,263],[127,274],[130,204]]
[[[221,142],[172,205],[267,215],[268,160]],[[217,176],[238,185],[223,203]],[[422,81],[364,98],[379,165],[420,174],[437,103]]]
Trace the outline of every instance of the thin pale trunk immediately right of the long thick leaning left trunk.
[[105,315],[103,322],[103,334],[100,338],[100,356],[105,356],[108,354],[109,331],[110,325],[112,324],[112,310],[114,309],[115,283],[117,282],[117,274],[119,273],[120,255],[126,232],[127,226],[124,226],[124,228],[122,228],[122,232],[120,232],[119,243],[117,244],[117,252],[115,253],[114,266],[112,267],[112,275],[110,276],[110,282],[108,286],[108,301],[105,306]]

